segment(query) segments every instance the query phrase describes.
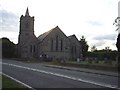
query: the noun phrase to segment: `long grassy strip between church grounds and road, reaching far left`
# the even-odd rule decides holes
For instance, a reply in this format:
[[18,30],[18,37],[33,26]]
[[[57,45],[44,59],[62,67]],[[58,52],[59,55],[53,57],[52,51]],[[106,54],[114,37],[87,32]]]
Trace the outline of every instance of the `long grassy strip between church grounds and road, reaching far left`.
[[[13,59],[12,59],[13,60]],[[57,65],[57,66],[66,66],[66,67],[74,67],[74,68],[86,68],[93,70],[101,70],[101,71],[109,71],[118,73],[118,63],[117,61],[112,60],[85,60],[85,61],[63,61],[63,60],[38,60],[38,59],[14,59],[17,61],[25,62],[25,63],[41,63],[47,65]]]

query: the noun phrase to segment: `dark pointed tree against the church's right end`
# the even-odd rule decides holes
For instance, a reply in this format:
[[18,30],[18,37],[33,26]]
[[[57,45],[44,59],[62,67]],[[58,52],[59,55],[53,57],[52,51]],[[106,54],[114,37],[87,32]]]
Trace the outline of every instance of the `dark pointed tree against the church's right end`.
[[84,36],[82,36],[82,38],[80,38],[80,44],[81,44],[81,49],[82,49],[81,51],[82,51],[82,56],[83,56],[83,60],[84,60],[86,57],[88,48],[89,48]]

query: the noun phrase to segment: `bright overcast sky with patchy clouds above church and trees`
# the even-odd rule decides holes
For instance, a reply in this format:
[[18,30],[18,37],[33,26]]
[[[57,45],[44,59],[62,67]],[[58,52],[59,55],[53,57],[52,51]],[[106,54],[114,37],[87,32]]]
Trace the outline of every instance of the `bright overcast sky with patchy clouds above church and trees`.
[[35,35],[59,26],[67,35],[85,36],[89,49],[109,46],[116,50],[118,32],[113,22],[118,17],[119,0],[0,0],[0,38],[18,43],[20,16],[35,17]]

